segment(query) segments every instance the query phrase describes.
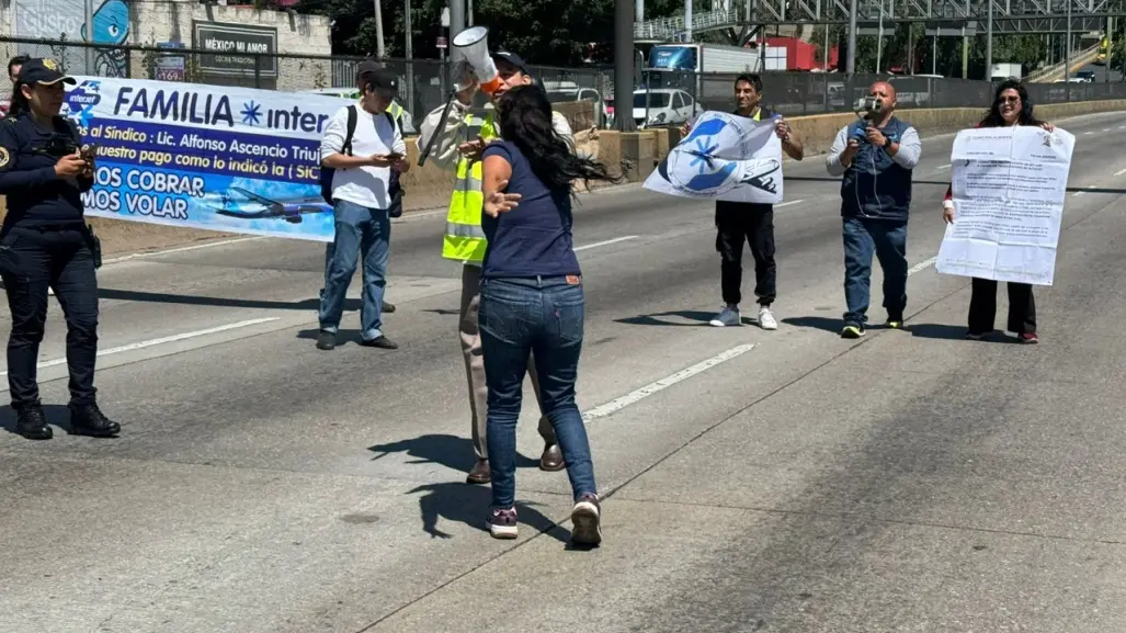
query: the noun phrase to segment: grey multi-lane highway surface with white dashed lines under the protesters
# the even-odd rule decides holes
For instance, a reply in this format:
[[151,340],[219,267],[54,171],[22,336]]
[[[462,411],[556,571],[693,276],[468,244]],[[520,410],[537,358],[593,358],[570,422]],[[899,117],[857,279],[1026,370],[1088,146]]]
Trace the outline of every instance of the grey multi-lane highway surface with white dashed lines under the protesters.
[[[1058,123],[1072,186],[1123,181],[1120,114]],[[917,178],[948,177],[949,148],[924,141]],[[584,198],[579,401],[616,409],[589,421],[609,493],[593,552],[566,547],[565,475],[534,467],[530,391],[521,536],[482,531],[440,213],[393,229],[395,351],[315,349],[319,244],[109,264],[98,386],[124,433],[0,433],[0,631],[1123,631],[1123,206],[1070,196],[1043,342],[1022,347],[960,340],[968,280],[930,266],[942,193],[915,188],[908,330],[861,341],[838,337],[833,184],[786,184],[774,332],[707,327],[707,204]],[[65,427],[54,301],[47,329]]]

